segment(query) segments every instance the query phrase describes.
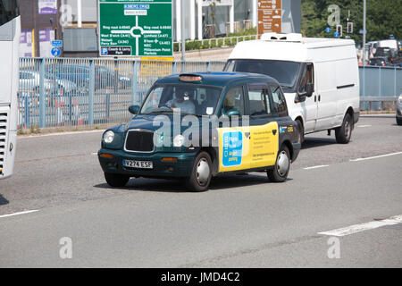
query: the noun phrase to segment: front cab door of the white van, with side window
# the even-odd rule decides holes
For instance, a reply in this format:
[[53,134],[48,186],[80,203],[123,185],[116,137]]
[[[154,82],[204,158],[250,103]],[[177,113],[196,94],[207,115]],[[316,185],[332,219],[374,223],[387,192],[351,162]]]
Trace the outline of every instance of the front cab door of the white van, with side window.
[[303,114],[303,118],[305,120],[305,133],[309,133],[315,130],[317,121],[317,96],[315,92],[316,87],[314,84],[314,64],[306,63],[303,69],[304,70],[297,92],[299,94],[305,93],[307,83],[313,84],[314,92],[312,97],[306,97],[305,101],[297,103],[296,105],[298,105],[301,109],[301,114]]

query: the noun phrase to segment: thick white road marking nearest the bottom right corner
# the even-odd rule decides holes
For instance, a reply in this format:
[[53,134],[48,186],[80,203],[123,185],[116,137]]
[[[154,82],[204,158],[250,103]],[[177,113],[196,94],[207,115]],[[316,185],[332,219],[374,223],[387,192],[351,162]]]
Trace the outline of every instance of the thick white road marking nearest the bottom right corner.
[[396,216],[391,216],[389,218],[386,218],[384,220],[379,220],[379,221],[373,221],[370,223],[360,223],[360,224],[354,224],[350,225],[348,227],[344,227],[338,230],[333,230],[333,231],[322,231],[318,232],[318,234],[322,235],[329,235],[329,236],[345,236],[361,231],[369,231],[373,230],[376,228],[379,228],[381,226],[385,225],[394,225],[402,223],[402,215],[396,215]]

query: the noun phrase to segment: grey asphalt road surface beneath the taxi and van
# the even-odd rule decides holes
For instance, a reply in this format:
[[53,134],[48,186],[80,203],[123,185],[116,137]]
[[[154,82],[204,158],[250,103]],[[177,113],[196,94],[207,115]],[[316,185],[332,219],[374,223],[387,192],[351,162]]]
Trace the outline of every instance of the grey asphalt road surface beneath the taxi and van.
[[[0,267],[402,265],[394,117],[362,117],[348,145],[306,136],[285,183],[233,175],[205,193],[148,179],[109,188],[95,155],[101,134],[18,139],[15,174],[0,181]],[[71,259],[60,256],[63,238]]]

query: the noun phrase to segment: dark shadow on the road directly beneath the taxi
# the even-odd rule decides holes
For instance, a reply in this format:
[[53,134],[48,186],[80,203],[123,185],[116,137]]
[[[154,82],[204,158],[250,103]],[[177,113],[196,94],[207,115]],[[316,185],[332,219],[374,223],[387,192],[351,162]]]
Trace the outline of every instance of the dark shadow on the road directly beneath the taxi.
[[[287,181],[291,181],[289,179]],[[235,189],[247,186],[255,186],[262,184],[274,184],[270,182],[266,175],[255,174],[242,174],[242,175],[225,175],[215,177],[211,181],[210,188],[214,189]],[[172,192],[172,193],[186,193],[191,192],[186,188],[184,181],[180,180],[163,180],[163,179],[131,179],[126,187],[112,188],[108,184],[98,184],[94,186],[97,189],[121,189],[121,190],[139,190],[139,191],[153,191],[153,192]]]

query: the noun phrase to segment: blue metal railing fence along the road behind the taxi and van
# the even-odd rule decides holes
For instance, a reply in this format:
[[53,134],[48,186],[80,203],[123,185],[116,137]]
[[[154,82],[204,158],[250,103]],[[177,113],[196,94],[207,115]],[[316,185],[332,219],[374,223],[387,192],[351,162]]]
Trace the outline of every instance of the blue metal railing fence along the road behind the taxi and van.
[[[222,71],[223,62],[21,58],[19,129],[126,122],[155,80],[172,73]],[[360,67],[362,108],[402,92],[402,69]],[[370,104],[364,102],[364,99]]]

